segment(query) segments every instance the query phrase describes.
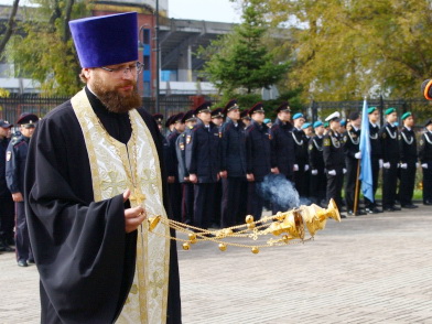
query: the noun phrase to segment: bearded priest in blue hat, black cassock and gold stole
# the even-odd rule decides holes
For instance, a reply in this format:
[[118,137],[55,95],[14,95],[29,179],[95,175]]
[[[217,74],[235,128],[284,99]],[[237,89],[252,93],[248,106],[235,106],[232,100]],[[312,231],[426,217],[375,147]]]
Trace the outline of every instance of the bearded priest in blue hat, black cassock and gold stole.
[[84,89],[40,121],[25,198],[42,323],[181,323],[161,134],[141,106],[136,12],[69,22]]

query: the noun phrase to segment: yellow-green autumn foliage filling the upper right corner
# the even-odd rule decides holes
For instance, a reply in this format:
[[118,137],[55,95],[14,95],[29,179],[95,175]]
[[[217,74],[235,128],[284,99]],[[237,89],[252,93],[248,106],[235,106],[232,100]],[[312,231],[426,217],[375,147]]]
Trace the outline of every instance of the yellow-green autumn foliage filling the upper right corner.
[[428,0],[267,0],[273,24],[289,25],[295,64],[289,85],[303,98],[418,97],[432,74]]

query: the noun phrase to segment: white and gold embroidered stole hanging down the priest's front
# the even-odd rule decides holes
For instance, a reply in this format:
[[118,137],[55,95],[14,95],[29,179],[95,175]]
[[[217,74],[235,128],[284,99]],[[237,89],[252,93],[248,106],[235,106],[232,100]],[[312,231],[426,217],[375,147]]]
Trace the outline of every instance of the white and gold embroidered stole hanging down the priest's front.
[[[109,199],[130,188],[132,207],[141,204],[148,217],[166,217],[156,148],[139,112],[129,111],[132,136],[125,145],[104,129],[85,90],[71,102],[87,148],[95,202]],[[133,183],[138,187],[134,188]],[[153,231],[159,235],[149,233],[145,220],[138,228],[133,283],[116,323],[166,322],[170,240],[165,237],[170,236],[170,229],[160,223]]]

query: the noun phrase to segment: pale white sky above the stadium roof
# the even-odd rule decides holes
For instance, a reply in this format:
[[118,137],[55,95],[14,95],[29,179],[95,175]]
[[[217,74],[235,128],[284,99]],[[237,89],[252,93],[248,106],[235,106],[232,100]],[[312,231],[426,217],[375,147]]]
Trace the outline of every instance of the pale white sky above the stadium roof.
[[[168,0],[170,18],[240,22],[238,4],[229,0]],[[13,0],[0,0],[0,4],[12,4]],[[28,3],[21,0],[20,4]]]

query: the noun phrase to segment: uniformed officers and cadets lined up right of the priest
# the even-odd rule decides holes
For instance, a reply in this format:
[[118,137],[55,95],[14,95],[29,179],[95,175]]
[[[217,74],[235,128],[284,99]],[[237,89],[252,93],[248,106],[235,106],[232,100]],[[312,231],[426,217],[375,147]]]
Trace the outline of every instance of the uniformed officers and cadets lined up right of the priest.
[[[173,217],[179,222],[199,228],[229,227],[244,223],[245,215],[260,219],[263,206],[273,213],[285,210],[287,206],[262,195],[261,185],[269,176],[292,182],[306,202],[326,206],[334,198],[350,216],[417,208],[412,197],[420,165],[423,204],[432,205],[432,119],[418,147],[410,112],[403,114],[403,127],[398,129],[395,108],[385,111],[382,127],[379,110],[368,109],[374,197],[382,170],[382,205],[365,198],[359,208],[360,114],[352,112],[346,128],[339,112],[310,123],[300,112],[291,116],[289,104],[282,102],[269,127],[262,102],[244,111],[235,99],[225,108],[210,106],[203,102],[165,121],[164,162]],[[163,116],[153,117],[162,134]]]

